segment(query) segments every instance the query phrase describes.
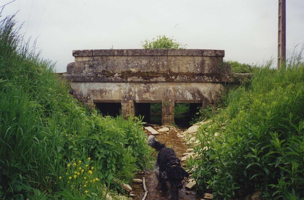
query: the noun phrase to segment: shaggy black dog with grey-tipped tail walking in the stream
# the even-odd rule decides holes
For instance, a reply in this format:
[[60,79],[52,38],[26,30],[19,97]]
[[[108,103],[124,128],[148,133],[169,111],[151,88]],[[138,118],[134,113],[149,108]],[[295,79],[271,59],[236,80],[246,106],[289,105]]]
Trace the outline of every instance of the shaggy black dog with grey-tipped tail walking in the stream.
[[158,142],[153,135],[148,138],[148,145],[158,151],[157,162],[154,166],[154,173],[158,178],[159,189],[167,191],[166,181],[170,183],[170,199],[178,199],[178,190],[183,188],[181,183],[184,177],[189,177],[188,173],[181,167],[179,159],[173,149],[167,148]]

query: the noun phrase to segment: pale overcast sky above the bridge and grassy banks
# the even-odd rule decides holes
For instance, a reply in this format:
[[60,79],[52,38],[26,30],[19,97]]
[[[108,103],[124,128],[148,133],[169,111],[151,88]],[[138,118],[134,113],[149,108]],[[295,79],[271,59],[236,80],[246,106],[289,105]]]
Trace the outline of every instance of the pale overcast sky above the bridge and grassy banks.
[[[142,48],[157,35],[174,36],[188,49],[225,50],[225,60],[277,58],[278,0],[16,0],[2,15],[18,10],[21,32],[38,37],[57,72],[74,61],[72,50]],[[286,1],[286,48],[302,42],[304,1]]]

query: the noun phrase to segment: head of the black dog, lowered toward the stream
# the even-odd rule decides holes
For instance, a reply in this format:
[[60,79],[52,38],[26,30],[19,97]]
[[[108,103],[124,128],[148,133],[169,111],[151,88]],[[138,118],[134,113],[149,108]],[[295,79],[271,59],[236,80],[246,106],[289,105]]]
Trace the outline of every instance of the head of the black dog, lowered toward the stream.
[[181,183],[185,177],[189,177],[188,173],[181,166],[171,166],[168,170],[168,178],[170,179],[170,185],[172,189],[181,189],[183,184]]

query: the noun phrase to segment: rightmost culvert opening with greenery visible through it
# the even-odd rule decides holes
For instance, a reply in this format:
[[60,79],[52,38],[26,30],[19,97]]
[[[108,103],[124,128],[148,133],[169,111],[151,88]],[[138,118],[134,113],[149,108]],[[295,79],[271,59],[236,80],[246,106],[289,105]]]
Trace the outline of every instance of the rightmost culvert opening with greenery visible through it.
[[180,128],[189,128],[196,118],[199,118],[199,109],[202,103],[175,103],[174,123]]

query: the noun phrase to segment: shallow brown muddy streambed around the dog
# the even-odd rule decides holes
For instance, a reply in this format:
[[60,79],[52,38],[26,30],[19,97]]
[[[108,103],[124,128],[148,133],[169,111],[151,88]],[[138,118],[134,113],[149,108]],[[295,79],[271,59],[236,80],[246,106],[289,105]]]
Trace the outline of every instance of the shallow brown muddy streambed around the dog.
[[[157,130],[157,128],[155,127]],[[183,157],[183,153],[186,152],[188,146],[185,145],[180,137],[177,137],[178,132],[183,132],[184,130],[181,129],[175,129],[170,130],[167,133],[160,133],[159,135],[156,135],[155,138],[164,143],[167,147],[170,147],[174,150],[176,156],[178,158]],[[147,136],[150,135],[149,132],[147,132]],[[181,162],[181,165],[184,165],[184,162]],[[143,174],[137,175],[136,178],[145,178],[146,187],[148,190],[147,193],[147,200],[168,200],[169,198],[169,192],[162,193],[158,190],[158,181],[156,176],[154,175],[153,170],[145,170]],[[188,180],[188,179],[187,179]],[[187,185],[187,180],[183,182],[184,187],[179,191],[179,198],[181,200],[191,200],[191,199],[201,199],[194,191],[188,191],[185,189],[185,185]],[[167,182],[168,190],[170,190],[170,185]],[[133,193],[134,195],[137,195],[134,199],[141,200],[144,195],[143,185],[142,184],[133,184]]]

